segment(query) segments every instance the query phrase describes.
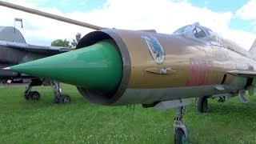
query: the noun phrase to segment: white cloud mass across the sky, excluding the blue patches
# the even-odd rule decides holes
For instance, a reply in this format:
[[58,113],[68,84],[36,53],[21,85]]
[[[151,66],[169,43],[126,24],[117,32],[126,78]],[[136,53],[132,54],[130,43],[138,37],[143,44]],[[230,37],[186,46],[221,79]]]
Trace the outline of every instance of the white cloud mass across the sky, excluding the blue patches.
[[[173,33],[181,26],[200,22],[201,25],[234,39],[242,46],[246,46],[247,49],[256,38],[256,34],[229,28],[230,20],[234,17],[231,12],[217,13],[206,7],[192,6],[189,2],[182,0],[175,0],[175,2],[170,0],[108,0],[101,9],[94,9],[86,13],[74,11],[67,14],[63,14],[57,8],[40,8],[32,0],[14,3],[98,26],[131,30],[156,29],[160,33],[167,34]],[[23,18],[25,28],[22,30],[22,34],[30,43],[40,41],[50,45],[54,39],[67,38],[71,40],[77,32],[86,34],[90,31],[81,26],[73,26],[2,7],[0,8],[0,17],[4,20],[4,22],[0,22],[0,25],[6,26],[13,26],[16,17]]]

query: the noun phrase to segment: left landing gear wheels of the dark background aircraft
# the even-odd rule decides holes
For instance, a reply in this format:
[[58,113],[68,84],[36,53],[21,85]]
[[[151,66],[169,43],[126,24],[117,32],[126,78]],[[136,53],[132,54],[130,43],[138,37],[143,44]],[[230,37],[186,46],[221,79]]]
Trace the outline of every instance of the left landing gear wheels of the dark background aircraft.
[[42,80],[40,79],[33,79],[29,86],[26,87],[26,90],[24,92],[24,98],[26,100],[32,99],[35,101],[38,101],[40,99],[40,94],[38,91],[31,91],[33,86],[41,86],[42,85]]

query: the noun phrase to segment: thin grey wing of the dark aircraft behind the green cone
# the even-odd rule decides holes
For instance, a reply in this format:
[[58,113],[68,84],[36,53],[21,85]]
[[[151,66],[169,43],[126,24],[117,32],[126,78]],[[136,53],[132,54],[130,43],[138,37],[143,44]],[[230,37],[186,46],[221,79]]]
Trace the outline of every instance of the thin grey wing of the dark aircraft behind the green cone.
[[30,51],[30,52],[39,53],[39,54],[60,54],[66,51],[73,50],[73,49],[67,49],[65,47],[60,47],[60,46],[36,46],[36,45],[30,45],[26,43],[5,42],[5,41],[0,41],[0,46],[6,46],[13,49],[25,50],[25,51]]

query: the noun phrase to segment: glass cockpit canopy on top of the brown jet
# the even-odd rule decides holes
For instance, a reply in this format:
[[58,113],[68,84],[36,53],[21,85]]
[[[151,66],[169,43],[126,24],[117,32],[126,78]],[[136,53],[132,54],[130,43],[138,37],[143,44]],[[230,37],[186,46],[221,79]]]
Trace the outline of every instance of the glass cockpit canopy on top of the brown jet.
[[205,26],[200,26],[198,22],[193,25],[187,25],[179,28],[174,34],[185,34],[187,37],[196,38],[201,41],[207,41],[212,44],[221,45],[222,41],[218,34]]

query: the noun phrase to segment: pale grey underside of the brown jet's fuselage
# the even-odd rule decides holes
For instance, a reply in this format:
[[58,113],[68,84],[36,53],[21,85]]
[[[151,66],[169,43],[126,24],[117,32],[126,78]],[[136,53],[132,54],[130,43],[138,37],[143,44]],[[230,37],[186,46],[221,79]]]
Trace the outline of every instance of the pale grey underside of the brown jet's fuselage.
[[[190,92],[188,94],[188,91]],[[226,91],[227,93],[230,91]],[[223,94],[225,91],[216,90],[210,86],[185,86],[162,89],[127,89],[126,92],[114,102],[114,105],[162,102],[182,98],[194,98],[212,94]]]

